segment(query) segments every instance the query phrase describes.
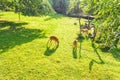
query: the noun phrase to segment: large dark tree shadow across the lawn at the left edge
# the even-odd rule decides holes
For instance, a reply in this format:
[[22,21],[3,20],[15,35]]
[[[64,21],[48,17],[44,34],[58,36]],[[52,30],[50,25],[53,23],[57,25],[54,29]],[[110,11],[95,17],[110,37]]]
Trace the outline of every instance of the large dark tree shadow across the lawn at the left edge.
[[[36,38],[45,38],[45,33],[38,29],[26,29],[22,27],[27,23],[14,23],[9,21],[0,21],[0,53],[8,51],[16,45],[31,42]],[[10,27],[5,28],[4,27]],[[13,28],[11,28],[14,26]]]

